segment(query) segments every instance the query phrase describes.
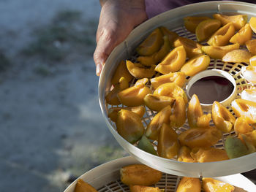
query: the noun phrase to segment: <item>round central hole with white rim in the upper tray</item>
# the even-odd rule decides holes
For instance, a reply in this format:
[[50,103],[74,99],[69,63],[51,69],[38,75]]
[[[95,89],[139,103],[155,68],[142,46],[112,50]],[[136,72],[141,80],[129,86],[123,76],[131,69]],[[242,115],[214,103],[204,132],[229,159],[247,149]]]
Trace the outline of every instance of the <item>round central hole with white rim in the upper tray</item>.
[[187,87],[189,99],[196,94],[203,109],[211,109],[214,101],[224,106],[236,97],[236,81],[227,72],[211,69],[200,72],[189,80]]

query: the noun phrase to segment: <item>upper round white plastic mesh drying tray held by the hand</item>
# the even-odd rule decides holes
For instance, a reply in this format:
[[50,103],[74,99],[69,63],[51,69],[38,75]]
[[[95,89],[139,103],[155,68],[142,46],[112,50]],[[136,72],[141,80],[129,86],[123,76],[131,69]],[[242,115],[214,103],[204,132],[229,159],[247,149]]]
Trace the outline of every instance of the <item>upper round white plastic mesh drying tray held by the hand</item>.
[[[195,34],[191,34],[184,27],[183,18],[187,16],[202,15],[211,17],[214,13],[222,14],[246,14],[248,18],[256,17],[256,6],[255,4],[248,4],[244,2],[235,1],[208,1],[197,4],[189,4],[184,7],[178,7],[168,12],[164,12],[161,15],[157,15],[155,18],[151,18],[145,23],[141,24],[122,42],[118,47],[113,50],[110,54],[105,66],[103,67],[102,74],[99,78],[99,104],[102,110],[103,117],[106,120],[108,128],[110,129],[113,136],[116,138],[118,143],[127,152],[134,156],[138,161],[154,169],[158,169],[161,172],[167,174],[175,174],[187,177],[219,177],[230,174],[236,174],[241,172],[247,172],[256,168],[256,153],[244,155],[240,158],[233,158],[226,161],[216,161],[208,163],[185,163],[177,161],[176,158],[167,159],[161,158],[157,155],[151,155],[143,150],[140,150],[135,145],[130,144],[123,139],[116,131],[115,123],[108,118],[108,109],[112,106],[106,104],[105,94],[110,91],[111,88],[111,77],[116,69],[116,66],[120,61],[130,59],[135,61],[135,47],[137,47],[143,39],[145,39],[154,28],[159,26],[165,26],[171,31],[175,31],[181,37],[187,37],[192,40],[196,40]],[[252,37],[255,39],[255,35]],[[248,88],[252,84],[246,82],[241,74],[241,67],[246,64],[229,64],[223,63],[221,60],[211,59],[211,64],[208,69],[221,69],[229,72],[236,80],[237,85],[237,98],[240,97],[241,91],[244,88]],[[189,77],[187,78],[189,81]],[[116,107],[116,106],[115,106]],[[232,112],[231,107],[227,108]],[[155,112],[146,108],[146,115],[143,117],[143,123],[146,126]],[[189,128],[186,122],[184,126],[178,129],[178,131],[184,131]],[[235,134],[234,132],[231,133]],[[223,141],[225,137],[230,134],[223,134],[222,140],[214,145],[217,148],[223,148]]]

